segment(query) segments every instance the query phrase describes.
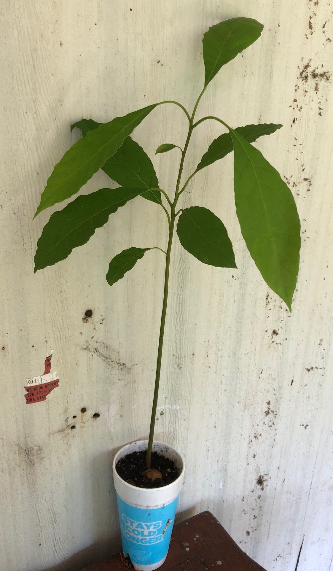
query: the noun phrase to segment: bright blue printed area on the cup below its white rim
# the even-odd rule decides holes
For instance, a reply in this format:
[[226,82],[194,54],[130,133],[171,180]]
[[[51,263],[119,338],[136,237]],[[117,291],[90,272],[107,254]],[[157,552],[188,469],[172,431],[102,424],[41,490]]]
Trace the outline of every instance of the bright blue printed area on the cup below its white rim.
[[154,565],[168,552],[178,497],[162,508],[142,509],[117,494],[123,552],[137,565]]

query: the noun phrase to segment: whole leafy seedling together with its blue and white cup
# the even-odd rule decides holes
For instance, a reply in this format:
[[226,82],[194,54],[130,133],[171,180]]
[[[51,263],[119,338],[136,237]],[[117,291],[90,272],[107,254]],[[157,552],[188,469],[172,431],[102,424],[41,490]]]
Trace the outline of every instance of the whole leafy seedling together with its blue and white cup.
[[[95,229],[107,222],[110,214],[138,196],[159,204],[166,214],[167,245],[124,250],[111,259],[106,274],[107,282],[112,286],[152,248],[158,248],[161,255],[166,256],[149,440],[126,445],[117,453],[113,464],[123,551],[125,555],[129,554],[135,569],[157,569],[165,560],[184,475],[184,463],[179,453],[165,444],[154,442],[175,226],[180,244],[195,258],[211,266],[236,268],[234,251],[223,222],[207,208],[182,208],[180,199],[196,172],[232,150],[240,230],[263,279],[291,311],[299,268],[299,217],[290,189],[260,151],[251,145],[260,136],[271,134],[282,125],[249,124],[231,128],[215,116],[195,120],[200,99],[216,73],[255,42],[262,30],[262,24],[254,19],[232,18],[212,26],[204,34],[204,86],[191,114],[182,104],[170,100],[151,104],[108,123],[97,123],[91,119],[74,123],[72,128],[79,128],[83,138],[74,143],[54,167],[35,214],[37,216],[45,208],[76,194],[99,168],[120,185],[119,188],[102,188],[79,196],[63,210],[51,215],[38,240],[35,271],[67,258],[73,248],[85,244]],[[130,136],[155,107],[165,103],[182,108],[188,122],[183,147],[174,142],[165,143],[156,151],[161,153],[178,148],[181,152],[174,196],[169,196],[159,187],[151,160]],[[192,132],[208,119],[218,121],[227,132],[211,143],[194,172],[187,180],[182,180]]]

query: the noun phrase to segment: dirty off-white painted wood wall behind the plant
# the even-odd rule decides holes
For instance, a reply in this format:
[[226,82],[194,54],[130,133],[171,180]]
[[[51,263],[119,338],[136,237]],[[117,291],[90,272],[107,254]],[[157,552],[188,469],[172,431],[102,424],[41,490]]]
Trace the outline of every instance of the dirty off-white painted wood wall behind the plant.
[[[299,282],[290,315],[240,236],[232,155],[201,171],[183,204],[222,218],[239,270],[203,266],[175,245],[156,436],[186,458],[180,519],[211,510],[269,571],[294,571],[302,544],[298,571],[332,570],[331,8],[324,0],[2,0],[1,571],[75,571],[119,549],[111,463],[122,444],[147,436],[157,353],[163,255],[149,252],[113,288],[105,274],[124,248],[164,247],[163,212],[135,199],[85,247],[34,275],[51,213],[33,221],[41,191],[78,138],[73,120],[110,120],[162,99],[192,108],[203,32],[238,15],[264,23],[262,37],[220,71],[198,118],[284,124],[258,147],[296,199]],[[155,148],[182,144],[185,129],[168,105],[134,132],[166,190],[178,151],[154,156]],[[188,174],[220,132],[198,128]],[[83,192],[107,184],[101,173]],[[86,309],[93,317],[83,323]],[[27,406],[25,379],[43,372],[50,348],[59,388]]]

